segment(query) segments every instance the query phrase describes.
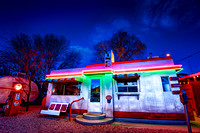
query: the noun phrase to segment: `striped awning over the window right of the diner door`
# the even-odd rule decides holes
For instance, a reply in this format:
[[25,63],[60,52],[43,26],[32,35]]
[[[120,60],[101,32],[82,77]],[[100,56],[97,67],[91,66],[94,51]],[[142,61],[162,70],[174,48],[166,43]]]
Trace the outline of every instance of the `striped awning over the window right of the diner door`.
[[135,74],[115,74],[115,75],[113,75],[113,78],[117,81],[139,79],[139,77],[140,76],[137,73],[135,73]]

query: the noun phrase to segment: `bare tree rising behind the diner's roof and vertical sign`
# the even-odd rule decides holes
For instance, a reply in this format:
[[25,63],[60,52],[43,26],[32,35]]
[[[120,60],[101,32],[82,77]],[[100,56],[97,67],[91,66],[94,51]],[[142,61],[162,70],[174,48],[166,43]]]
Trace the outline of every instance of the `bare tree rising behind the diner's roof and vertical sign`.
[[146,52],[146,45],[135,35],[119,30],[110,40],[94,45],[94,50],[94,59],[97,62],[104,62],[104,54],[108,50],[113,50],[116,61],[128,61],[142,58]]

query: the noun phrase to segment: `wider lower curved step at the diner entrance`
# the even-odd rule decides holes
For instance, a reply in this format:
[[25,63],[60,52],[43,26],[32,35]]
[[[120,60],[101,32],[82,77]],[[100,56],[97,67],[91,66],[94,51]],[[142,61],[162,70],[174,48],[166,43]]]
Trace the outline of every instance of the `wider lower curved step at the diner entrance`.
[[103,124],[110,124],[113,122],[113,118],[104,118],[101,120],[88,120],[84,119],[83,115],[76,116],[76,122],[83,124],[83,125],[103,125]]

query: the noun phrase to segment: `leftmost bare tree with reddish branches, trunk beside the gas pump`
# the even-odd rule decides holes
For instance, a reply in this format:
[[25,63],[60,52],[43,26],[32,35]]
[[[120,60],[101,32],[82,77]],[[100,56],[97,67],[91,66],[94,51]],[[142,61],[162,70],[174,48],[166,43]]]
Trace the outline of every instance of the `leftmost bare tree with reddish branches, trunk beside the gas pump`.
[[8,45],[5,47],[6,50],[0,51],[1,60],[4,64],[12,69],[12,71],[21,70],[27,75],[29,91],[25,91],[25,93],[27,95],[26,111],[28,111],[31,81],[43,64],[45,53],[41,53],[40,47],[33,44],[32,38],[23,33],[16,34],[8,41]]

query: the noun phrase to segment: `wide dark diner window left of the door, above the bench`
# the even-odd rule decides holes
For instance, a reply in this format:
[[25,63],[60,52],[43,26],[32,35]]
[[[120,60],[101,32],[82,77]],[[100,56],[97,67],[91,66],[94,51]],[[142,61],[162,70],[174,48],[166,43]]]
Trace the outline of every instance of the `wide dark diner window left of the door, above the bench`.
[[52,95],[80,95],[80,82],[54,83]]

